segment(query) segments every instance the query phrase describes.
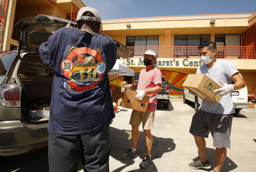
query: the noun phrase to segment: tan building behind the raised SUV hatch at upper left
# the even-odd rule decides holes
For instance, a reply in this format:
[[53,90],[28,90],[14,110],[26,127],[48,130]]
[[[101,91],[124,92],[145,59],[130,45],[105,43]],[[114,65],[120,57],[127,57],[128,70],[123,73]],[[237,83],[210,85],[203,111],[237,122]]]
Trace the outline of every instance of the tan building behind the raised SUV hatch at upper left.
[[75,21],[82,7],[81,0],[0,0],[1,52],[18,46],[15,24],[23,18],[44,14]]

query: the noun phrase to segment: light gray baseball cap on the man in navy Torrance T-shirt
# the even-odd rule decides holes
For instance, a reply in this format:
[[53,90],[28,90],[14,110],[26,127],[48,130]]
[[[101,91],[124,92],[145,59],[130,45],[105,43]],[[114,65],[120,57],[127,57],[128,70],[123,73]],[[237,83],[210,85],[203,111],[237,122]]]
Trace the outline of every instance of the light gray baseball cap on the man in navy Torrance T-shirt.
[[[83,16],[83,14],[87,11],[91,12],[95,17]],[[76,21],[79,21],[79,20],[95,21],[95,22],[101,23],[101,19],[100,19],[100,15],[99,15],[98,11],[95,10],[94,8],[91,8],[88,6],[82,7],[78,11]]]

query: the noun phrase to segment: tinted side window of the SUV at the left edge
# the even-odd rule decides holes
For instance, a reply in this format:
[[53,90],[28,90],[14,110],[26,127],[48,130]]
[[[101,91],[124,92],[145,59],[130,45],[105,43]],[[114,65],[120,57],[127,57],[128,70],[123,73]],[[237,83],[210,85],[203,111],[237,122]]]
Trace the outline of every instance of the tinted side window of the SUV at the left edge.
[[16,56],[16,52],[4,53],[0,58],[0,75],[6,75],[6,72],[11,65],[14,57]]

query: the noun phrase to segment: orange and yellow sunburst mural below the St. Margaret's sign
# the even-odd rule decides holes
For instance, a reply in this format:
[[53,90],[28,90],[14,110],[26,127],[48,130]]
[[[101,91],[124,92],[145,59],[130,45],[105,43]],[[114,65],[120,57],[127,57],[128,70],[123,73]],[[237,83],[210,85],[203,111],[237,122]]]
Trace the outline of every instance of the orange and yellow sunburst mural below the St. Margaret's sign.
[[[182,84],[184,83],[188,74],[173,72],[173,71],[166,71],[166,70],[161,70],[161,72],[162,72],[162,76],[165,76],[168,84],[170,85],[169,97],[174,99],[183,98],[184,87],[182,87]],[[115,77],[116,79],[114,79],[113,77]],[[110,77],[110,87],[112,91],[114,89],[114,86],[117,84],[117,76],[113,76],[113,77]],[[139,72],[138,73],[135,72],[133,81],[138,79],[139,79]],[[123,76],[118,78],[118,86],[121,86],[121,81],[124,81]]]

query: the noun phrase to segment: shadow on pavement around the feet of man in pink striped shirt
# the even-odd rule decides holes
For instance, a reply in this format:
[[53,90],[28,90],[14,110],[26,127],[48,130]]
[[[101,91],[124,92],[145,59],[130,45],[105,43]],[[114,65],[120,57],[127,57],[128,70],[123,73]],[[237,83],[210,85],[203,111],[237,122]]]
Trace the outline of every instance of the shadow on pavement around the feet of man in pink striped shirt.
[[[133,165],[135,163],[134,158],[136,157],[132,157],[129,159],[122,158],[122,154],[125,153],[126,149],[129,149],[131,147],[131,132],[132,131],[130,130],[119,130],[117,128],[110,127],[110,145],[111,145],[110,156],[124,164],[123,166],[115,169],[112,172],[120,172],[126,167]],[[151,150],[153,160],[157,158],[161,158],[162,155],[166,152],[174,151],[176,144],[173,141],[174,140],[170,138],[158,138],[153,135],[153,145]],[[142,159],[145,153],[146,153],[145,134],[144,132],[140,131],[139,139],[138,139],[138,154],[139,154],[138,156]],[[136,163],[138,163],[138,168],[139,168],[140,162],[136,162]],[[129,172],[132,172],[132,171],[156,172],[158,170],[154,162],[152,162],[150,163],[150,166],[145,169],[139,168],[136,170],[130,170]]]

